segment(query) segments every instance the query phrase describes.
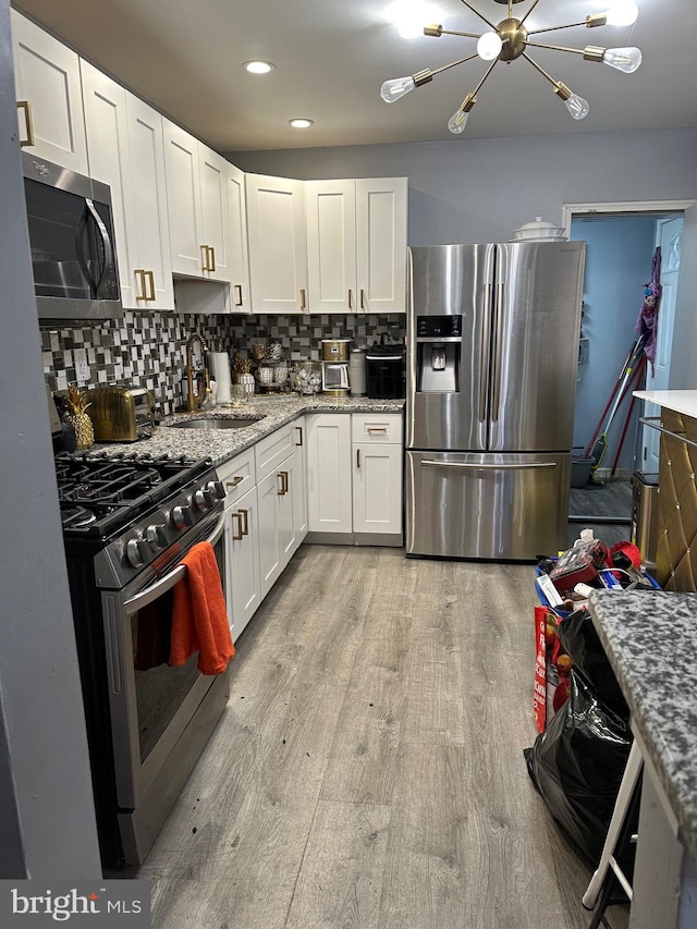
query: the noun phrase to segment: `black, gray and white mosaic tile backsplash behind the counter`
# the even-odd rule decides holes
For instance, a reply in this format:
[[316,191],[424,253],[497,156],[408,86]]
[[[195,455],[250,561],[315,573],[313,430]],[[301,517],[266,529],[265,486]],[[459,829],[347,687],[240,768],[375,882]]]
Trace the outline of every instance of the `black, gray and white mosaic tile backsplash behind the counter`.
[[[44,375],[53,391],[119,384],[145,387],[155,396],[158,413],[182,407],[185,343],[196,331],[215,351],[250,357],[249,345],[280,342],[292,364],[319,359],[321,339],[352,339],[353,347],[371,345],[383,334],[404,340],[404,314],[388,316],[200,316],[172,313],[130,313],[121,320],[77,328],[42,326]],[[77,377],[75,350],[85,350],[89,377]]]

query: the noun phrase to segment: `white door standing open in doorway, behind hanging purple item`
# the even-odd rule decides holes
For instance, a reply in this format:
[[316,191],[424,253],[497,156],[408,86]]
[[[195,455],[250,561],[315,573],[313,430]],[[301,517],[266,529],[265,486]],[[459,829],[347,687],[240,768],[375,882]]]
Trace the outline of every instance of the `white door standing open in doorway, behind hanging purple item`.
[[[680,274],[683,217],[661,219],[656,223],[656,245],[661,247],[661,302],[656,335],[656,364],[647,367],[646,390],[668,390],[675,323],[675,302]],[[661,410],[646,403],[645,417],[658,417]],[[640,470],[658,474],[661,435],[650,426],[643,430]]]

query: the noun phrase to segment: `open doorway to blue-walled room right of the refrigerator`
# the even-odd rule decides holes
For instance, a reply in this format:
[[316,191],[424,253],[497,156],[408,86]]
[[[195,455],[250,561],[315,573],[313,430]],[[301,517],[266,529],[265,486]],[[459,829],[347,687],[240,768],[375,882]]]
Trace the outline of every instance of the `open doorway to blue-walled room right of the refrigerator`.
[[[670,250],[682,227],[683,210],[690,204],[578,204],[564,207],[564,227],[570,239],[588,242],[584,285],[583,346],[579,355],[574,453],[589,453],[596,426],[608,425],[614,399],[626,372],[626,362],[637,333],[636,321],[644,300],[644,283],[651,273],[651,259],[657,245],[663,254]],[[680,242],[680,237],[677,239]],[[668,246],[668,247],[667,247]],[[664,267],[668,264],[665,259]],[[674,260],[672,265],[674,265]],[[669,296],[659,313],[661,330],[657,346],[662,345],[661,367],[656,374],[667,380],[670,370],[670,347],[674,292],[677,268],[671,265]],[[663,269],[661,274],[663,280]],[[671,300],[672,293],[672,300]],[[663,311],[665,310],[665,311]],[[660,340],[660,343],[659,343]],[[652,380],[655,375],[652,375]],[[640,402],[634,402],[632,391],[645,387],[645,376],[634,379],[625,399],[616,408],[608,429],[608,444],[601,467],[592,481],[572,488],[570,500],[570,545],[582,528],[592,528],[597,538],[611,546],[632,535],[632,475],[641,467],[644,455]],[[660,382],[660,381],[659,381]],[[651,389],[653,389],[651,384]],[[656,386],[656,389],[660,389]],[[613,403],[610,403],[610,399]],[[607,405],[606,405],[607,404]],[[647,414],[648,415],[648,414]],[[600,419],[599,419],[600,418]],[[656,433],[655,430],[646,430]],[[649,441],[647,435],[646,440]],[[656,450],[657,451],[657,450]],[[658,470],[658,467],[656,468]],[[579,525],[583,524],[583,525]]]

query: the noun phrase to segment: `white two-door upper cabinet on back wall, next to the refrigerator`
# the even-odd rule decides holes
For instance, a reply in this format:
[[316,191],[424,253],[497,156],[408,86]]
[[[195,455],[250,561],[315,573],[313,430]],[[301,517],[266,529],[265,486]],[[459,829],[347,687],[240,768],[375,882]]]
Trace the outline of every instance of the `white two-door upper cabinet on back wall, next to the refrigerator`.
[[306,181],[310,313],[406,311],[406,178]]

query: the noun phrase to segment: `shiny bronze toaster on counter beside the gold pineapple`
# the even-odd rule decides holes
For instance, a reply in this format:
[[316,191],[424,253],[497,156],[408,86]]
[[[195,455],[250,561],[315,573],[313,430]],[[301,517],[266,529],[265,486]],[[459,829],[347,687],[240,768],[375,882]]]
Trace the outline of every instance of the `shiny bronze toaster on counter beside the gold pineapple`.
[[88,391],[96,442],[137,442],[155,428],[155,400],[143,387],[95,387]]

